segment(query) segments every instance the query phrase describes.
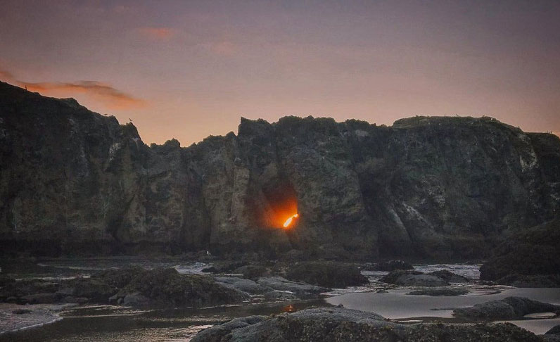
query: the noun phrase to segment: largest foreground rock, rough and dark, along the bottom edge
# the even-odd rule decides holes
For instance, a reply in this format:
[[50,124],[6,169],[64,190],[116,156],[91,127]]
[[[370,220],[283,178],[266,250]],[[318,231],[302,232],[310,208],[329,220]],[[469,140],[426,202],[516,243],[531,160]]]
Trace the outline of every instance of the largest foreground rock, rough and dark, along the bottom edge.
[[192,341],[537,342],[542,339],[514,324],[404,325],[388,322],[370,312],[317,308],[269,318],[251,316],[234,319],[199,332]]

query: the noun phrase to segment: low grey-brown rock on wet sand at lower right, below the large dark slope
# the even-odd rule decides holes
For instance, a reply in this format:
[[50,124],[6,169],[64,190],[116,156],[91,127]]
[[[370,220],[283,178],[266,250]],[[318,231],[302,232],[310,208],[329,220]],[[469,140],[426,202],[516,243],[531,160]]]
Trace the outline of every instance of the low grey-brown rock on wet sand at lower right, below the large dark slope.
[[528,298],[507,297],[476,304],[471,308],[453,310],[453,315],[466,319],[500,320],[521,319],[525,315],[536,312],[560,312],[560,306],[537,302]]

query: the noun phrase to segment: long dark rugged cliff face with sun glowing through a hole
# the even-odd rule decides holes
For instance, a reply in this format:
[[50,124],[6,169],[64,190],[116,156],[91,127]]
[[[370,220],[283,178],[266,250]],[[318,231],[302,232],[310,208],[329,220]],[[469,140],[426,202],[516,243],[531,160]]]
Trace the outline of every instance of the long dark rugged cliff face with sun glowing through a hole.
[[148,147],[132,124],[0,83],[4,251],[469,258],[559,205],[558,137],[491,118],[242,118],[237,135]]

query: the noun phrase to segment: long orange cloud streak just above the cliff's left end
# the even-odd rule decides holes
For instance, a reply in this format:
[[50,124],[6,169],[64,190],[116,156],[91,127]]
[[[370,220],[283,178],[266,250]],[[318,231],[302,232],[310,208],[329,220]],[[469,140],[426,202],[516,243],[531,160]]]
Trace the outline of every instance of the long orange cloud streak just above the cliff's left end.
[[132,109],[146,106],[146,101],[125,94],[109,84],[96,81],[37,83],[18,81],[18,84],[21,87],[26,87],[29,91],[37,91],[44,95],[61,96],[61,94],[66,94],[66,96],[74,96],[77,93],[85,94],[110,109]]

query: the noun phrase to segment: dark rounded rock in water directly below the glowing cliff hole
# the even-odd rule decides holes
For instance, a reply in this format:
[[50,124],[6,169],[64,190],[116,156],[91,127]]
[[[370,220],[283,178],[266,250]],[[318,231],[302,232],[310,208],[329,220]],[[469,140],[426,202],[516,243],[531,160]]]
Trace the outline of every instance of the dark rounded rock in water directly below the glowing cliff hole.
[[330,288],[360,286],[369,282],[355,265],[338,262],[300,262],[290,267],[286,278]]

